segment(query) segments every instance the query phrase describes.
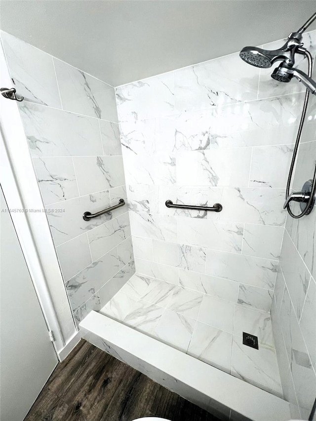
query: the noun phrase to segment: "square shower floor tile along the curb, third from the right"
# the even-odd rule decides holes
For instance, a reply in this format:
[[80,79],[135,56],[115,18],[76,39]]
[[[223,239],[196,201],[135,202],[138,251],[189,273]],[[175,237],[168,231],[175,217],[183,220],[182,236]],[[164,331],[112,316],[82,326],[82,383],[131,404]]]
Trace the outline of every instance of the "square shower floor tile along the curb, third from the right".
[[164,344],[186,352],[195,323],[194,319],[167,309],[161,315],[154,329],[154,335]]

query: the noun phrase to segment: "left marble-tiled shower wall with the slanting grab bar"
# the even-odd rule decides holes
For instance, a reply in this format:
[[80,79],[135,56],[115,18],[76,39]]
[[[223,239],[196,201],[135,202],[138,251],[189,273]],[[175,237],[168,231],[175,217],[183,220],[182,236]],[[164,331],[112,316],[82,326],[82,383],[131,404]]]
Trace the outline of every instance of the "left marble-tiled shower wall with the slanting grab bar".
[[115,89],[1,32],[74,316],[104,306],[135,272]]

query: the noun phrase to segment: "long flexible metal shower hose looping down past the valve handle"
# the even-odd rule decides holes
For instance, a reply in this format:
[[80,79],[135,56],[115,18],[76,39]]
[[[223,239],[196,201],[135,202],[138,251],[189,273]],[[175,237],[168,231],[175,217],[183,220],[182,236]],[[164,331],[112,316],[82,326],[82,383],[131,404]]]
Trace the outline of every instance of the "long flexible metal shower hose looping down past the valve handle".
[[[312,61],[311,53],[306,50],[304,52],[304,55],[308,59],[308,76],[309,77],[312,77],[313,61]],[[290,194],[291,180],[292,180],[293,170],[294,170],[294,166],[295,166],[295,161],[296,161],[296,155],[297,155],[298,147],[299,147],[300,141],[301,141],[302,129],[303,129],[303,124],[304,124],[304,120],[305,120],[305,115],[306,115],[306,110],[307,110],[309,96],[310,96],[310,91],[308,89],[306,89],[304,106],[303,106],[303,111],[302,111],[302,115],[301,115],[301,121],[300,121],[300,124],[299,124],[299,127],[298,127],[298,131],[297,131],[296,142],[295,142],[295,147],[294,147],[293,156],[292,156],[292,162],[291,162],[290,171],[289,171],[288,179],[287,179],[286,197],[288,197],[289,194]],[[313,185],[312,185],[311,196],[310,196],[310,198],[309,198],[309,200],[307,202],[306,208],[299,215],[294,215],[293,212],[290,209],[290,204],[288,203],[287,206],[286,206],[287,212],[289,213],[289,215],[292,218],[296,218],[296,219],[302,218],[302,216],[306,215],[307,212],[309,212],[309,210],[310,210],[310,208],[312,206],[312,203],[313,203],[315,191],[316,191],[316,166],[315,166],[315,171],[314,171],[314,178],[313,178]]]

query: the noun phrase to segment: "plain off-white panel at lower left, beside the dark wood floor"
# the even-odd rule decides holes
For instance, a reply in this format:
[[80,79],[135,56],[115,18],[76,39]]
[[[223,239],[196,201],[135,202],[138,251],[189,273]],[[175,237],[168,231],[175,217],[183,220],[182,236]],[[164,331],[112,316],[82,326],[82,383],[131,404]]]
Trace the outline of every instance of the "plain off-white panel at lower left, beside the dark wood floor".
[[24,420],[58,363],[0,187],[0,419]]

